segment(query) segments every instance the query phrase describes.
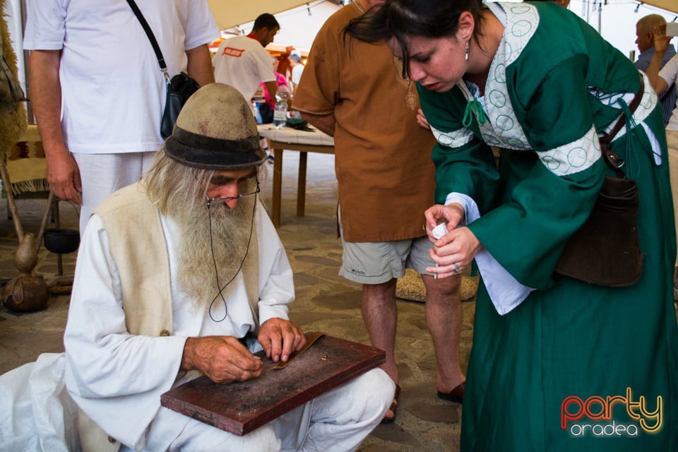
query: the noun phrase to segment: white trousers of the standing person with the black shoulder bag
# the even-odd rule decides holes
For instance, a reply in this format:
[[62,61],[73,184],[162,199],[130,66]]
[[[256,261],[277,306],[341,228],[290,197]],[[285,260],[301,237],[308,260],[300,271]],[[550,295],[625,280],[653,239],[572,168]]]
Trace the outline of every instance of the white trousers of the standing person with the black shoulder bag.
[[83,234],[92,210],[109,194],[138,182],[153,163],[155,153],[80,154],[73,158],[83,183],[80,233]]

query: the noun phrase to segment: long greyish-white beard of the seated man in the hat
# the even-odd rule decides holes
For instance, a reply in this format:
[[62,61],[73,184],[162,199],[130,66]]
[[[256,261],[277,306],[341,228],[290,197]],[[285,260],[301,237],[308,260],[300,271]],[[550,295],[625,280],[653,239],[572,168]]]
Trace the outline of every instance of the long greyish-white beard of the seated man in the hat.
[[[215,297],[220,299],[219,288],[240,270],[250,234],[254,234],[254,201],[254,197],[241,199],[234,209],[225,204],[212,207],[211,234],[206,201],[196,202],[193,196],[186,196],[184,201],[177,200],[177,206],[168,206],[168,216],[177,222],[180,231],[174,244],[179,259],[179,287],[194,299],[194,308],[208,306]],[[222,291],[226,299],[231,287],[227,285]]]

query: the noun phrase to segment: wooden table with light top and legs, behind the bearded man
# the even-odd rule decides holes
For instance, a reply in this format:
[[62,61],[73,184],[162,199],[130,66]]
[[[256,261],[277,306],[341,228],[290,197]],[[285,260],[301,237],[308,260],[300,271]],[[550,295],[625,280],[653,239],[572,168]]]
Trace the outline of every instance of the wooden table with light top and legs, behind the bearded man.
[[268,148],[275,154],[273,160],[273,206],[270,220],[280,227],[280,203],[283,194],[283,150],[299,151],[299,178],[297,179],[297,216],[304,216],[306,201],[306,169],[308,153],[333,154],[334,139],[317,129],[301,131],[286,127],[275,129],[272,124],[259,124],[259,135],[268,138]]

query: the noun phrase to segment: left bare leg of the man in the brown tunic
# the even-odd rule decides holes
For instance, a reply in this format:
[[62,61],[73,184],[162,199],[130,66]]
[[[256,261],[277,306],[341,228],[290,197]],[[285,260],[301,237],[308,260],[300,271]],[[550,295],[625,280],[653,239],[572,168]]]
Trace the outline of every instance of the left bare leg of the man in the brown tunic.
[[[382,284],[362,285],[362,319],[369,333],[370,343],[386,351],[386,362],[381,369],[391,377],[393,383],[398,384],[398,367],[394,352],[396,349],[396,323],[398,310],[396,309],[396,279]],[[398,400],[393,399],[393,403]],[[388,410],[385,420],[393,420],[395,413]]]

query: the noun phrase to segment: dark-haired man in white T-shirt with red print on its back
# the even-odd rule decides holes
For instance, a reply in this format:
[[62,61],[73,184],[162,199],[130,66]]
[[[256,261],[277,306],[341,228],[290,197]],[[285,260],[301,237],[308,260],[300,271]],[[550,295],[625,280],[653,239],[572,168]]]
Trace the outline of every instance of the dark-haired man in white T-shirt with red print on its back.
[[254,20],[249,35],[224,40],[212,60],[215,81],[233,86],[246,100],[251,100],[263,82],[270,97],[275,98],[278,83],[270,65],[270,54],[264,47],[273,42],[278,30],[278,20],[272,14],[263,13]]

